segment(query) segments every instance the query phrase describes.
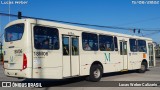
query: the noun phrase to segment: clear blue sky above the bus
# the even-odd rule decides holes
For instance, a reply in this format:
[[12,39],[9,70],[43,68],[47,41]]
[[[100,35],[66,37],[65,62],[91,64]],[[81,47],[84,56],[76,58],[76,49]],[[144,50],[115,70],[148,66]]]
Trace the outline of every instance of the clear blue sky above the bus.
[[[0,0],[0,12],[8,13],[8,0]],[[10,0],[27,1],[27,4],[11,4],[10,13],[22,12],[24,16],[54,19],[68,22],[142,28],[160,30],[160,0]],[[159,4],[139,4],[141,1],[156,1]],[[139,2],[133,4],[133,2]],[[11,17],[10,21],[17,18]],[[0,15],[0,34],[4,26],[10,22],[9,17]],[[87,27],[87,26],[83,26]],[[141,34],[132,30],[97,28],[111,32],[131,34],[152,38],[160,43],[160,32],[141,31]],[[151,34],[153,33],[153,34]]]

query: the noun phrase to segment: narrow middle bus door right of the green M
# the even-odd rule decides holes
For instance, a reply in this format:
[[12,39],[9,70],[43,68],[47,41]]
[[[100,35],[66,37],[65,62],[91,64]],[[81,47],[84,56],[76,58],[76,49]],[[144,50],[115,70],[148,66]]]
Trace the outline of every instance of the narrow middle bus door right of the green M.
[[123,58],[123,69],[128,69],[127,41],[120,41],[120,55]]

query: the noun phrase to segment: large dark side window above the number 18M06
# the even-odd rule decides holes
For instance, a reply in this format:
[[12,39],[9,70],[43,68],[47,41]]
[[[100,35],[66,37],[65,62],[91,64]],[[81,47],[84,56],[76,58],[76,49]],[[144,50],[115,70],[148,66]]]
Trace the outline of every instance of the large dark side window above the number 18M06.
[[41,50],[58,50],[59,49],[58,29],[34,26],[34,47]]

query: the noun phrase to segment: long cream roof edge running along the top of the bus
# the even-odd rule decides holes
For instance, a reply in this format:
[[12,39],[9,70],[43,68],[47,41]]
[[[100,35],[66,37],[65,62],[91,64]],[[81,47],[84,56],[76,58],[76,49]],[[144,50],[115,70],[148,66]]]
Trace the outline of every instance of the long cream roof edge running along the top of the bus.
[[[136,35],[127,35],[127,34],[121,34],[121,33],[116,33],[116,32],[109,32],[106,30],[98,30],[98,29],[93,29],[93,28],[86,28],[86,27],[81,27],[81,26],[74,26],[74,25],[69,25],[69,24],[63,24],[59,22],[53,22],[53,21],[46,21],[46,20],[37,20],[37,19],[18,19],[15,21],[10,22],[9,24],[6,25],[6,27],[17,24],[17,23],[33,23],[33,24],[39,24],[39,25],[44,25],[48,27],[57,27],[57,28],[63,28],[63,29],[70,29],[70,30],[76,30],[76,31],[84,31],[84,32],[91,32],[91,33],[98,33],[98,34],[106,34],[106,35],[113,35],[113,36],[119,36],[119,37],[128,37],[128,38],[137,38],[137,39],[144,39],[144,40],[151,40],[151,38],[147,37],[140,37]],[[5,27],[5,28],[6,28]]]

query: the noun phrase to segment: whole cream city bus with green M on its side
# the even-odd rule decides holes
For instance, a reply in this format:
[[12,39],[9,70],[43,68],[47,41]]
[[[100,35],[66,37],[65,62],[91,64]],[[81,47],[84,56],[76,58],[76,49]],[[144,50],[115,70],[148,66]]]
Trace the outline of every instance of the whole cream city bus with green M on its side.
[[36,19],[5,27],[4,73],[11,77],[64,79],[155,66],[152,39]]

